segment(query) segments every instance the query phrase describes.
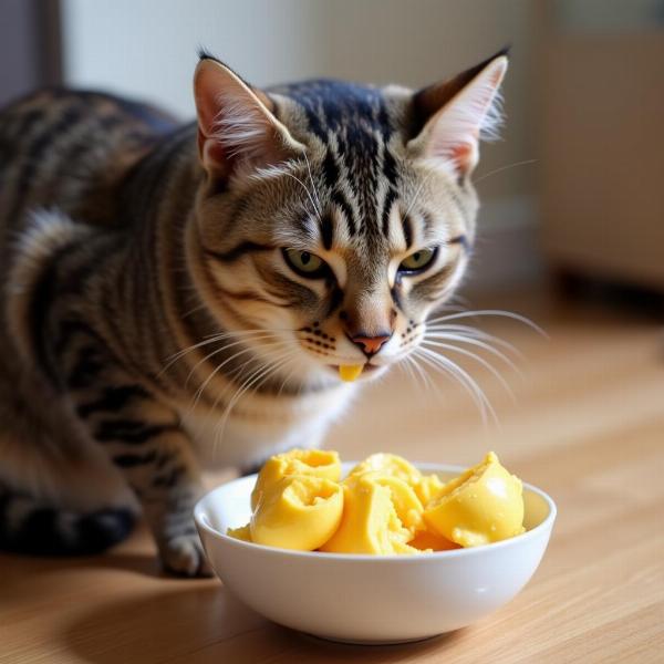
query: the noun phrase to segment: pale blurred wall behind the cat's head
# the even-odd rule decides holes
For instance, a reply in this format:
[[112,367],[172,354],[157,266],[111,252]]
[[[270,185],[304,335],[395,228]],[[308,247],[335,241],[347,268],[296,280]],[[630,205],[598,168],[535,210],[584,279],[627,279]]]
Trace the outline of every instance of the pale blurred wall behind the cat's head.
[[[190,117],[205,45],[257,85],[309,76],[419,86],[512,43],[504,141],[478,172],[530,159],[529,0],[62,0],[68,83],[159,102]],[[532,168],[487,178],[487,198],[530,194]]]

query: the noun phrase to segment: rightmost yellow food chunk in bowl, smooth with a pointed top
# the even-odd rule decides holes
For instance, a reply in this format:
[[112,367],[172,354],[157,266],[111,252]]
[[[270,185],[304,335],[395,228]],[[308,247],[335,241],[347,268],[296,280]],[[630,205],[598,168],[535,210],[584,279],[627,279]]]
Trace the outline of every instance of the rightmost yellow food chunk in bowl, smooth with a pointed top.
[[448,481],[427,505],[424,518],[434,532],[477,547],[523,532],[521,480],[490,452],[481,464]]

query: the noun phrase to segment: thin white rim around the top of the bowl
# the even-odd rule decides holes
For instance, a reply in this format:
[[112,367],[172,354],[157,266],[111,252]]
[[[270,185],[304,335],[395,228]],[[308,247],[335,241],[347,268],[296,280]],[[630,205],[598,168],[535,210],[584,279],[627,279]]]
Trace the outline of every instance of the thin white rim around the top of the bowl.
[[[345,466],[354,466],[359,461],[344,461],[342,464],[342,468]],[[467,466],[459,466],[456,464],[436,464],[430,461],[416,463],[412,461],[413,466],[418,470],[424,470],[428,473],[464,473],[468,469]],[[266,556],[277,556],[277,557],[295,557],[295,558],[308,558],[310,560],[335,560],[335,561],[354,561],[354,562],[374,562],[377,564],[407,564],[413,563],[414,561],[429,561],[429,560],[440,560],[448,558],[459,558],[459,557],[468,557],[468,556],[480,556],[486,553],[487,551],[496,551],[498,549],[505,549],[509,547],[519,546],[519,542],[525,542],[529,539],[537,539],[538,537],[544,535],[546,531],[550,531],[553,527],[553,522],[556,521],[556,517],[558,515],[558,509],[556,507],[556,502],[546,491],[542,489],[528,484],[522,483],[523,488],[529,491],[536,494],[540,498],[544,500],[549,508],[549,513],[544,518],[544,520],[532,528],[531,530],[527,530],[521,535],[517,535],[506,540],[501,540],[499,542],[491,542],[490,544],[483,544],[480,547],[468,547],[460,549],[450,549],[447,551],[432,551],[430,553],[423,552],[422,556],[403,556],[400,553],[387,553],[385,556],[377,556],[375,553],[330,553],[326,551],[298,551],[295,549],[282,549],[280,547],[269,547],[267,544],[257,544],[255,542],[246,542],[243,540],[239,540],[235,537],[230,537],[225,532],[221,532],[205,522],[203,519],[204,516],[204,504],[209,500],[209,497],[216,491],[221,490],[229,485],[237,481],[248,481],[250,479],[256,479],[258,474],[246,475],[243,477],[238,477],[236,479],[231,479],[228,483],[219,485],[214,489],[207,491],[205,496],[199,498],[194,507],[194,520],[196,521],[196,526],[198,529],[204,529],[209,532],[212,537],[217,539],[221,539],[225,543],[232,547],[238,547],[240,550],[245,549],[246,551],[262,551]]]

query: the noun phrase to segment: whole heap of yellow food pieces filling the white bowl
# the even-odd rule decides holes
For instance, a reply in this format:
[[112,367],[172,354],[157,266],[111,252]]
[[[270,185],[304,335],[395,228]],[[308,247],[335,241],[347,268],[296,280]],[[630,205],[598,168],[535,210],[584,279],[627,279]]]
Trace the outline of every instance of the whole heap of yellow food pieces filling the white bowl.
[[338,453],[293,449],[264,464],[251,508],[249,525],[227,535],[300,551],[418,554],[489,544],[525,530],[521,480],[492,452],[444,483],[383,453],[341,480]]

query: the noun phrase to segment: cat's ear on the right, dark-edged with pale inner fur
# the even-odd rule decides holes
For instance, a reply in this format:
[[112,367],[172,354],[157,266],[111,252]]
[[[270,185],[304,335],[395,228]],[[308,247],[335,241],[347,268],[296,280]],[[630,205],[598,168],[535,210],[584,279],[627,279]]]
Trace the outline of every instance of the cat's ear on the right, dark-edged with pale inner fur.
[[414,157],[470,174],[479,159],[479,139],[496,136],[500,124],[499,87],[507,51],[413,97],[418,133],[408,142]]

